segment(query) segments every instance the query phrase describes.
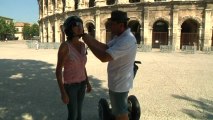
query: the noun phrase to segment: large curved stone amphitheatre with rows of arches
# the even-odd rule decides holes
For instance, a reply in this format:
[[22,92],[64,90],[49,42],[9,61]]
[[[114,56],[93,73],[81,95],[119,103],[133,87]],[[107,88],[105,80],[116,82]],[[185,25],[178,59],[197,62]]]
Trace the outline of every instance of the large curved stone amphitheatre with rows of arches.
[[128,26],[139,45],[173,50],[213,46],[212,0],[38,0],[42,42],[62,42],[61,26],[71,15],[84,22],[84,31],[101,42],[111,38],[107,19],[112,10],[128,13]]

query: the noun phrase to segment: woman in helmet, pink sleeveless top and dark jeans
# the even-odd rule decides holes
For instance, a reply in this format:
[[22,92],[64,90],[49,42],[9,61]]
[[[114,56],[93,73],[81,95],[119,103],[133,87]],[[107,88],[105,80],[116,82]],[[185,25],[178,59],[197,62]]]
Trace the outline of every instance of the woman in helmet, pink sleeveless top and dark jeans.
[[83,34],[83,21],[77,16],[68,17],[63,29],[67,40],[58,50],[56,77],[61,99],[67,104],[68,120],[81,120],[85,90],[87,88],[87,92],[91,91],[85,68],[87,61],[85,44],[79,41]]

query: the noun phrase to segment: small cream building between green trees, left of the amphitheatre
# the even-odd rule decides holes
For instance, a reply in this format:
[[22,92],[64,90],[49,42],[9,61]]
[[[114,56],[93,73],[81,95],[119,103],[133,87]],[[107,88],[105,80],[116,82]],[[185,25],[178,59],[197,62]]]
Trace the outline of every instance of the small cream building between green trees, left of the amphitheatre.
[[29,25],[29,26],[30,26],[29,23],[24,23],[24,22],[16,22],[16,23],[15,23],[15,28],[16,28],[16,30],[17,30],[17,31],[16,31],[16,34],[15,34],[15,37],[18,38],[18,40],[24,40],[22,30],[23,30],[23,27],[24,27],[25,25]]

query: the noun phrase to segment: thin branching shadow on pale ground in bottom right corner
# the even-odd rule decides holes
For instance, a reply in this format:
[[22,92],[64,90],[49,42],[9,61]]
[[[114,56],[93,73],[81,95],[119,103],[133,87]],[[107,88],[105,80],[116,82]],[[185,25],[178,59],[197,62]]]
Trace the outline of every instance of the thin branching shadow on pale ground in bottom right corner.
[[185,100],[191,103],[195,108],[193,110],[184,108],[181,111],[193,119],[207,120],[213,119],[213,101],[204,98],[199,98],[198,100],[190,98],[188,96],[172,95],[172,97]]

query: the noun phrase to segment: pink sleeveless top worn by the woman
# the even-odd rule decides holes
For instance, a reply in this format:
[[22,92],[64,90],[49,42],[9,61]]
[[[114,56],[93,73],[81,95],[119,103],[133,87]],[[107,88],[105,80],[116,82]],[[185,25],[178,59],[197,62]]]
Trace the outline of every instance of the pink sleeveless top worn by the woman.
[[82,44],[81,53],[72,44],[66,42],[69,48],[69,58],[64,63],[64,83],[80,83],[86,79],[85,65],[87,62],[85,44]]

